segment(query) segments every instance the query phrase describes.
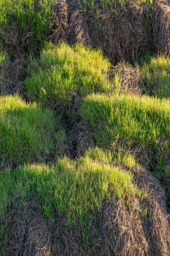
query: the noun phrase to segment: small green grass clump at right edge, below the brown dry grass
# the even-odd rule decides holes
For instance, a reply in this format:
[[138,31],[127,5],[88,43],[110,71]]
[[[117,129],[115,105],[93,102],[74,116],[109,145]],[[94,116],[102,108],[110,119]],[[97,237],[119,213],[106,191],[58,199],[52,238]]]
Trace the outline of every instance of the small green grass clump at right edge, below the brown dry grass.
[[[147,61],[148,60],[148,61]],[[169,57],[146,56],[140,67],[144,75],[144,92],[160,98],[170,97],[170,59]]]

